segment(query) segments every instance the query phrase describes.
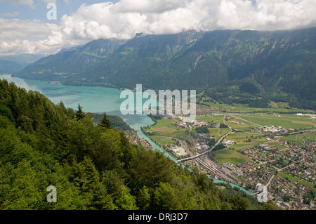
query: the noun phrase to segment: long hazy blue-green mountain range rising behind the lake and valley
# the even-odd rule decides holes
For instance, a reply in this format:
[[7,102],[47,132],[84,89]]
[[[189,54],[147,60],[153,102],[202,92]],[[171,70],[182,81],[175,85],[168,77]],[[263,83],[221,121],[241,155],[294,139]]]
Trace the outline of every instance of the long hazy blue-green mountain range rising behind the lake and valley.
[[316,109],[316,28],[138,34],[51,55],[15,74],[70,85],[195,89],[225,103]]

